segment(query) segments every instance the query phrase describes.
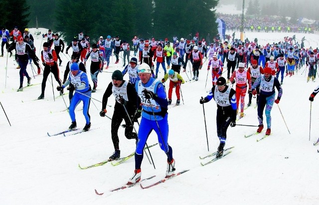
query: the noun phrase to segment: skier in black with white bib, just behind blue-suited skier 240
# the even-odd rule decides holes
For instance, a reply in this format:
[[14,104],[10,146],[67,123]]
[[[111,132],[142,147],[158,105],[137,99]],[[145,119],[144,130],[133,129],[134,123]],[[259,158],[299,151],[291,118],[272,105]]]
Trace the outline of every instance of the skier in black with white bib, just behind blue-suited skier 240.
[[104,66],[103,53],[98,50],[98,46],[95,43],[92,44],[92,50],[86,54],[84,61],[87,61],[89,57],[91,57],[90,73],[93,81],[92,93],[95,93],[98,87],[98,74],[103,71]]

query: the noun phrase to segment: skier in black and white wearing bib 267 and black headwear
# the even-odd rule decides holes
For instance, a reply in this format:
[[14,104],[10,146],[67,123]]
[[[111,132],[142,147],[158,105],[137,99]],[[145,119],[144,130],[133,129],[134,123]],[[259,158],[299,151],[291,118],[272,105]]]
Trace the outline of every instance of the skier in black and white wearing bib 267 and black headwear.
[[236,95],[235,90],[226,85],[226,79],[220,77],[217,80],[217,85],[213,86],[209,94],[199,103],[207,103],[214,99],[217,104],[216,125],[217,137],[220,140],[217,148],[216,158],[220,158],[224,153],[224,146],[226,142],[227,128],[236,126]]

